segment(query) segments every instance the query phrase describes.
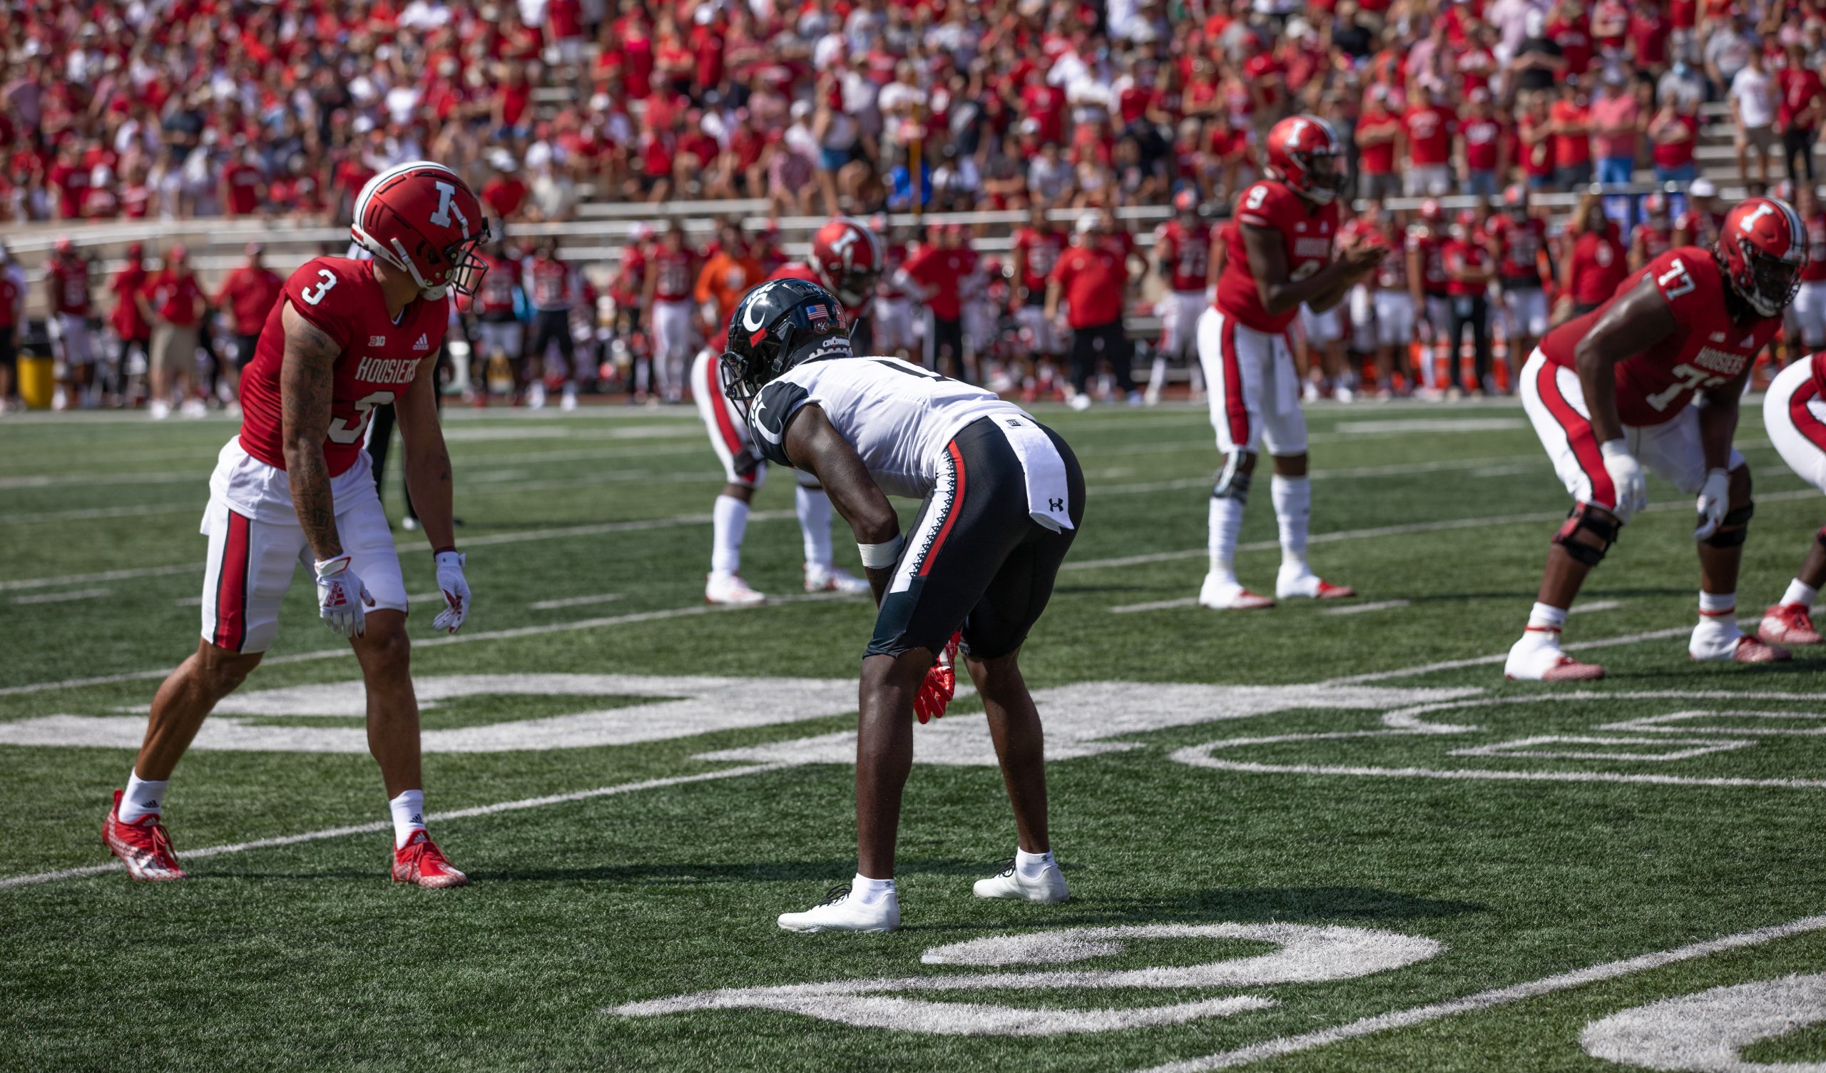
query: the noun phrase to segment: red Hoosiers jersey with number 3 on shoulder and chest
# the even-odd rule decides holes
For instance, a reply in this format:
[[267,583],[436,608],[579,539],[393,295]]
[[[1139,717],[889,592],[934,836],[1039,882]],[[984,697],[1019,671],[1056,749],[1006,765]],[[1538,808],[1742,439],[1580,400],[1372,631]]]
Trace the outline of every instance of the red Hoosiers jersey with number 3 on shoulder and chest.
[[292,272],[283,299],[259,332],[254,359],[241,372],[241,449],[278,469],[285,469],[279,365],[287,307],[341,350],[331,389],[331,427],[323,438],[323,462],[331,476],[338,476],[362,454],[374,407],[404,396],[418,376],[418,363],[436,358],[449,325],[449,303],[415,299],[394,323],[373,261],[316,257]]

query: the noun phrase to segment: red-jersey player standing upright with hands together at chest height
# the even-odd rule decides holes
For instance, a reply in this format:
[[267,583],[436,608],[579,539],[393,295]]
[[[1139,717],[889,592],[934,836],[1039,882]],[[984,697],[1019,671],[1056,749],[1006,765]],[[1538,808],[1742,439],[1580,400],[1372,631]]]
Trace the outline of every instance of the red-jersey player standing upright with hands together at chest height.
[[1227,248],[1214,305],[1198,321],[1211,423],[1223,465],[1211,487],[1211,571],[1198,602],[1205,608],[1271,608],[1236,580],[1236,535],[1244,524],[1256,451],[1275,458],[1273,498],[1282,566],[1275,591],[1291,597],[1346,597],[1306,564],[1311,484],[1306,476],[1306,416],[1287,349],[1287,325],[1300,305],[1328,310],[1388,254],[1362,239],[1333,257],[1338,230],[1338,135],[1311,115],[1293,115],[1267,135],[1267,179],[1244,190],[1236,226],[1220,228]]

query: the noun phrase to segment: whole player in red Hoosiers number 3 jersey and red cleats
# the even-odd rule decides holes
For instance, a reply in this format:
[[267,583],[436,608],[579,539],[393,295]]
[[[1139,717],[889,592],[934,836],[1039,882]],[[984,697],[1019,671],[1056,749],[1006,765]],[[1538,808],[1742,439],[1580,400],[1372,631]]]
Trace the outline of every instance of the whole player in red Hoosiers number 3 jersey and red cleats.
[[351,641],[367,684],[367,743],[393,812],[393,880],[467,881],[425,836],[405,580],[362,434],[374,407],[394,405],[405,484],[446,600],[433,626],[455,633],[469,613],[469,584],[431,394],[446,296],[475,294],[484,272],[475,248],[488,224],[455,172],[415,161],[362,188],[349,230],[373,259],[316,257],[292,272],[241,374],[241,434],[221,451],[203,516],[203,641],[159,686],[133,776],[102,827],[135,880],[184,878],[159,823],[166,781],[210,710],[259,664],[292,571],[309,564],[318,615]]

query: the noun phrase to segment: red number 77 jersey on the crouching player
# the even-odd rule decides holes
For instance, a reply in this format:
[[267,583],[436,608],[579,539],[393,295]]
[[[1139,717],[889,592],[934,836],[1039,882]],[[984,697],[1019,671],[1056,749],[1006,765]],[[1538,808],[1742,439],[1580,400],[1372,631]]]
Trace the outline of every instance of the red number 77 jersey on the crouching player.
[[1662,425],[1698,391],[1713,391],[1742,380],[1782,318],[1757,318],[1737,323],[1726,312],[1726,283],[1711,250],[1678,246],[1643,265],[1618,285],[1603,305],[1574,318],[1541,339],[1541,354],[1554,365],[1572,367],[1572,352],[1598,318],[1643,279],[1654,281],[1674,314],[1674,332],[1616,363],[1616,412],[1625,425]]

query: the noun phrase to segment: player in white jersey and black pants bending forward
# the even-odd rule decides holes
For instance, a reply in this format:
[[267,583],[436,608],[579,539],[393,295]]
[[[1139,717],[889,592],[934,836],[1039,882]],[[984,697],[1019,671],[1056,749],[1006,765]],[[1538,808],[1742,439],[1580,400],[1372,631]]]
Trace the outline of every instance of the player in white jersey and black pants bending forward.
[[[893,931],[900,790],[913,717],[940,715],[962,631],[988,714],[1019,849],[979,898],[1065,901],[1046,839],[1039,712],[1017,662],[1085,509],[1085,478],[1057,434],[995,394],[898,358],[860,358],[836,299],[794,279],[749,292],[729,327],[723,391],[769,462],[818,474],[849,522],[880,613],[862,657],[856,878],[787,931]],[[887,496],[924,498],[911,535]]]

